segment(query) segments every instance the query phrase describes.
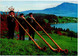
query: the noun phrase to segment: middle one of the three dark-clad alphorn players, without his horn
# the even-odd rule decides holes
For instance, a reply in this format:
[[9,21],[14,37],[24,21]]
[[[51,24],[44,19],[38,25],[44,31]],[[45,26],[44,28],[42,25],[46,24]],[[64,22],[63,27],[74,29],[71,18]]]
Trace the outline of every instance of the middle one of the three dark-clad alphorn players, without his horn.
[[[20,24],[26,29],[26,22],[23,19],[23,17],[24,17],[24,14],[21,13],[20,17],[18,18],[18,20],[19,20]],[[19,25],[19,35],[20,35],[20,37],[19,37],[20,40],[21,39],[25,40],[25,31],[22,29],[22,27],[20,25]]]

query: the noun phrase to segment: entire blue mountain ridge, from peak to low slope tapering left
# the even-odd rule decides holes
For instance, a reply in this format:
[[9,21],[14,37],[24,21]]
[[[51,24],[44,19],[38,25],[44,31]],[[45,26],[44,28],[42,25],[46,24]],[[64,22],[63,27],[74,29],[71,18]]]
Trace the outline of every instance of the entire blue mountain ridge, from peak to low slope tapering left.
[[78,4],[64,2],[56,7],[47,8],[44,10],[28,10],[22,11],[21,13],[28,14],[32,13],[45,13],[45,14],[55,14],[57,16],[68,16],[77,17]]

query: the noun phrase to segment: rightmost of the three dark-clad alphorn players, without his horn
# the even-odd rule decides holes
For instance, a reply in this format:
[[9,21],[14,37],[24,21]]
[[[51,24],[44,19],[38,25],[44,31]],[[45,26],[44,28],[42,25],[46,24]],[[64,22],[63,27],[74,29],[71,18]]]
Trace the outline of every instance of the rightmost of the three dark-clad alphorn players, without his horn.
[[[33,19],[34,19],[33,18],[33,14],[32,13],[29,13],[29,17],[26,20],[35,28],[36,26],[35,26],[35,22],[34,22]],[[27,26],[28,26],[28,29],[29,29],[29,34],[34,39],[35,31],[29,25],[27,25]],[[29,37],[29,40],[31,40],[30,37]]]

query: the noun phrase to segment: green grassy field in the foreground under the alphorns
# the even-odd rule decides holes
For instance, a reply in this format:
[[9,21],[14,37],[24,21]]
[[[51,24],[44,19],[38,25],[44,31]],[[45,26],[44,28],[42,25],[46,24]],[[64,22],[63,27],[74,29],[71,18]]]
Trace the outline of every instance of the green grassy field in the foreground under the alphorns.
[[[46,36],[46,34],[39,32],[46,40],[50,43],[51,46],[57,48],[56,45]],[[16,40],[14,39],[2,39],[0,38],[0,55],[77,55],[77,38],[71,38],[67,36],[60,36],[58,34],[52,33],[49,34],[56,43],[62,49],[68,49],[68,54],[63,52],[53,52],[47,44],[37,35],[35,34],[36,42],[41,46],[47,47],[46,51],[39,50],[36,45],[29,40]],[[25,36],[28,38],[28,36]]]

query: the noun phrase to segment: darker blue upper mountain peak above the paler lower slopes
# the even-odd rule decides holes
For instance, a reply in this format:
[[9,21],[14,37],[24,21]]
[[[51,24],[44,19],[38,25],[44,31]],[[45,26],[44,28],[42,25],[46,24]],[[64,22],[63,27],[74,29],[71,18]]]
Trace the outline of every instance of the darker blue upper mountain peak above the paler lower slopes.
[[78,8],[78,5],[77,4],[74,4],[74,3],[67,3],[67,2],[64,2],[56,7],[53,7],[53,8],[47,8],[45,10],[59,10],[59,11],[72,11],[72,12],[76,12],[77,11],[77,8]]

